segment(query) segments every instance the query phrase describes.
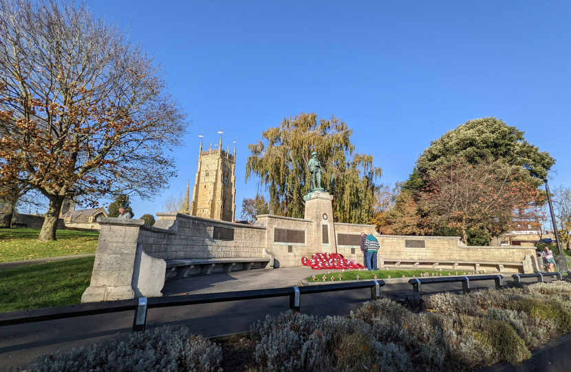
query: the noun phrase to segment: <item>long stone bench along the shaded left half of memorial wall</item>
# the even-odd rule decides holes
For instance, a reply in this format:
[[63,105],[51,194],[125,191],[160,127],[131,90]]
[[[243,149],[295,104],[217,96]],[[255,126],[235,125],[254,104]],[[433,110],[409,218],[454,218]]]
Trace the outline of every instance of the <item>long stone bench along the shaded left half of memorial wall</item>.
[[232,271],[264,269],[270,265],[270,257],[244,258],[188,258],[165,260],[166,278],[186,278],[190,275],[230,273]]

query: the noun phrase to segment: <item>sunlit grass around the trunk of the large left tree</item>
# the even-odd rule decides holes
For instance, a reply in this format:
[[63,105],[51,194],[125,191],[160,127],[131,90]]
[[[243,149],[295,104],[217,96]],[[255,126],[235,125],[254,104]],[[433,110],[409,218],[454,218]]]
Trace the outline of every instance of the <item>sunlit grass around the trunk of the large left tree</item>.
[[0,262],[95,253],[99,231],[57,230],[57,240],[37,241],[40,229],[0,229]]

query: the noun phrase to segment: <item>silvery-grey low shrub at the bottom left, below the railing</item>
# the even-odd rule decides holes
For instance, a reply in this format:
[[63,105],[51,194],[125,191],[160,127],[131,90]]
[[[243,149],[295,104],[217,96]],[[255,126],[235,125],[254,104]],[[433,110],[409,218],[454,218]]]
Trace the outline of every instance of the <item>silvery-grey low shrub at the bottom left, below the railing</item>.
[[45,354],[12,371],[27,372],[217,372],[222,349],[188,329],[154,329],[131,333],[129,340],[94,344],[84,349]]

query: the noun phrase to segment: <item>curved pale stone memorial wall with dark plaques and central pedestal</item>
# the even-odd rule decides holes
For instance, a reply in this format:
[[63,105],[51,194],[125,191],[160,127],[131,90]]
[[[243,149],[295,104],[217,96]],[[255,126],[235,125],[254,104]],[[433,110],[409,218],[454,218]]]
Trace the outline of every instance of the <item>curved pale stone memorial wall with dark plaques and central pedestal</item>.
[[[317,203],[317,207],[330,203],[330,199],[321,194],[308,198],[306,203]],[[158,213],[153,226],[144,225],[143,220],[100,218],[94,271],[82,302],[161,296],[165,260],[237,261],[178,262],[180,265],[169,262],[169,274],[183,277],[202,272],[202,267],[194,265],[211,265],[208,273],[224,270],[224,265],[237,269],[242,262],[246,262],[248,268],[253,267],[254,260],[248,262],[241,258],[268,258],[264,262],[269,263],[261,265],[264,267],[299,267],[303,256],[310,258],[319,252],[336,252],[362,264],[360,233],[374,234],[374,225],[333,223],[332,210],[321,213],[317,207],[309,208],[313,211],[311,216],[306,214],[303,219],[257,216],[255,225],[172,213]],[[403,260],[408,261],[403,262],[407,267],[433,269],[433,265],[438,265],[463,271],[475,270],[477,265],[482,270],[494,271],[530,272],[537,268],[535,249],[466,247],[460,244],[458,237],[449,236],[376,236],[380,243],[379,267],[383,262],[396,266]],[[183,265],[186,263],[188,265]],[[179,273],[178,267],[184,270]]]

